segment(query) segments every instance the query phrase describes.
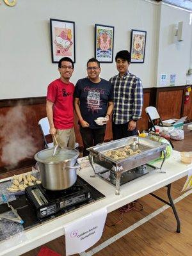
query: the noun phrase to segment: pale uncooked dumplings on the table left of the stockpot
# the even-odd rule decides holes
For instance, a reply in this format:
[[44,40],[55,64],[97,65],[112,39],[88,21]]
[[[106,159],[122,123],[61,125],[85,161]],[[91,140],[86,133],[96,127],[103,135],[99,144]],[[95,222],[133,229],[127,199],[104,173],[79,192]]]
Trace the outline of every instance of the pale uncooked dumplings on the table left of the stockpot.
[[21,174],[21,175],[14,175],[11,181],[10,187],[7,188],[8,191],[12,193],[20,193],[28,187],[33,186],[35,184],[40,184],[40,175],[38,172],[28,173],[28,174]]

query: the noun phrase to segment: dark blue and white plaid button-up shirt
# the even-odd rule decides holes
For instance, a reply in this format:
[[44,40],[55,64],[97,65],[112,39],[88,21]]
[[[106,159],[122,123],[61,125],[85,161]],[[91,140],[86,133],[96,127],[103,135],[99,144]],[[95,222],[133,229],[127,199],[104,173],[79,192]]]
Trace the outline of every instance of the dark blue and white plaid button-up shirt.
[[113,85],[113,122],[125,124],[129,120],[141,118],[143,107],[143,87],[140,78],[127,71],[123,77],[120,74],[111,77]]

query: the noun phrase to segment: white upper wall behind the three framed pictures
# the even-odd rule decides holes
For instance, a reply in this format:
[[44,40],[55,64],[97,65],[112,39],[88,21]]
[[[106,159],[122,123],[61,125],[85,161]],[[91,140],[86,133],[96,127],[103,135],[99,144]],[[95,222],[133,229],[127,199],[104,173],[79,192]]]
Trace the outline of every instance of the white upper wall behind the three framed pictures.
[[[0,99],[45,96],[47,85],[58,77],[58,65],[51,62],[50,18],[76,22],[73,83],[86,76],[86,61],[94,55],[94,26],[104,24],[115,26],[114,58],[116,52],[130,49],[131,29],[147,31],[145,63],[132,63],[129,70],[141,78],[144,88],[156,86],[157,72],[168,70],[175,63],[172,50],[172,58],[169,62],[164,61],[163,56],[170,50],[164,50],[168,42],[164,45],[161,36],[168,33],[166,30],[175,20],[180,21],[183,17],[188,20],[188,14],[183,11],[178,10],[181,17],[177,19],[177,15],[166,17],[162,14],[166,8],[160,10],[160,5],[144,0],[19,0],[14,7],[6,6],[1,1]],[[159,24],[162,26],[160,35]],[[162,57],[159,54],[159,59],[158,45],[163,52]],[[182,51],[182,56],[186,58],[182,69],[186,70],[189,45],[185,42],[179,50]],[[101,76],[105,79],[116,74],[115,61],[102,63],[101,67]],[[180,72],[180,67],[175,65],[173,71],[174,74]],[[180,85],[185,83],[183,76],[178,81]]]

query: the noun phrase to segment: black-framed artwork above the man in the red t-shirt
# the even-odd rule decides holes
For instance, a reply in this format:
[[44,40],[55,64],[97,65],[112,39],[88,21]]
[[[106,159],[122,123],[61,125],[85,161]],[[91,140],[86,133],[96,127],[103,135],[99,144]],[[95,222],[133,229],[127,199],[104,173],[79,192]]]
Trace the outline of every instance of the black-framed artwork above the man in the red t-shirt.
[[52,63],[69,57],[76,62],[75,22],[50,19]]

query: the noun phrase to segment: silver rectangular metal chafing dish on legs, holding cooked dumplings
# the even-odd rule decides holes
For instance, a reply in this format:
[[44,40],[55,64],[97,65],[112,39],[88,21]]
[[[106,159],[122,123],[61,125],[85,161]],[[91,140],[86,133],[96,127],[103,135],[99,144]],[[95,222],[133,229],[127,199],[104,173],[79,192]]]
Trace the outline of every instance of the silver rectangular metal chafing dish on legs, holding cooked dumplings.
[[[116,161],[105,154],[108,150],[117,150],[125,147],[126,145],[129,145],[134,151],[140,149],[141,152],[133,156],[127,156],[119,161]],[[92,175],[92,177],[95,177],[96,175],[93,162],[106,168],[115,176],[115,194],[120,195],[120,178],[122,173],[157,159],[161,157],[162,153],[163,162],[161,163],[161,167],[159,169],[161,173],[164,173],[161,168],[166,156],[166,146],[166,143],[152,141],[148,138],[141,138],[139,136],[131,136],[87,148],[87,150],[90,152],[88,158],[94,171],[94,175]]]

